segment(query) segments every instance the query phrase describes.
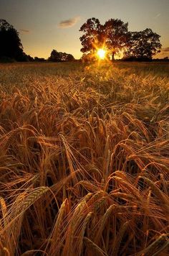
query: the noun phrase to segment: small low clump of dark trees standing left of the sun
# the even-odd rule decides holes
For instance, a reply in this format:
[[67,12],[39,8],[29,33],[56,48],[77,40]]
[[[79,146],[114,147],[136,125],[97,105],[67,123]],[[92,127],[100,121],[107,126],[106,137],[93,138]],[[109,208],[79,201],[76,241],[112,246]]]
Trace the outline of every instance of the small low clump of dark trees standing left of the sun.
[[72,61],[74,60],[74,57],[66,52],[57,52],[57,50],[52,50],[48,60],[53,62]]

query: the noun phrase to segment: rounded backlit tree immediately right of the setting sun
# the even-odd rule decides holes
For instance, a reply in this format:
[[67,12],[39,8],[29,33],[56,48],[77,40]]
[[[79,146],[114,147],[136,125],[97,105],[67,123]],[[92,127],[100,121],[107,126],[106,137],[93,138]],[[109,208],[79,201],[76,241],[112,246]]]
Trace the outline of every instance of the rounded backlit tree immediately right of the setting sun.
[[121,19],[109,19],[105,22],[103,30],[107,48],[112,53],[112,60],[114,60],[115,54],[128,45],[128,23],[122,22]]

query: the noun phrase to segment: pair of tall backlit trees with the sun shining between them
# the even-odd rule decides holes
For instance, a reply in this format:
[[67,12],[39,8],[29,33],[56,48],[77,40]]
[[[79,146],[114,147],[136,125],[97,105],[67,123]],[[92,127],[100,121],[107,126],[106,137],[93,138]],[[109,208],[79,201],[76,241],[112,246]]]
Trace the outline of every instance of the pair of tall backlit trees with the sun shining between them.
[[84,53],[95,53],[99,47],[105,47],[114,59],[115,54],[120,52],[126,45],[128,39],[128,24],[120,19],[109,19],[104,25],[99,19],[87,19],[79,29],[84,35],[80,37],[82,42],[81,51]]

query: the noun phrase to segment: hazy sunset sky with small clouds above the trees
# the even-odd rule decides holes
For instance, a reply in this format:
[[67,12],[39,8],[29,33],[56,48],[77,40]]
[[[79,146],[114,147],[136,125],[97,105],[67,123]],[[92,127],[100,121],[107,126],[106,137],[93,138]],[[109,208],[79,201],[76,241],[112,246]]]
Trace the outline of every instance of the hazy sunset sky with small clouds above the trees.
[[92,17],[102,24],[122,19],[130,31],[153,29],[162,43],[155,58],[169,57],[169,0],[0,0],[0,19],[14,26],[32,57],[48,58],[55,49],[80,58],[79,28]]

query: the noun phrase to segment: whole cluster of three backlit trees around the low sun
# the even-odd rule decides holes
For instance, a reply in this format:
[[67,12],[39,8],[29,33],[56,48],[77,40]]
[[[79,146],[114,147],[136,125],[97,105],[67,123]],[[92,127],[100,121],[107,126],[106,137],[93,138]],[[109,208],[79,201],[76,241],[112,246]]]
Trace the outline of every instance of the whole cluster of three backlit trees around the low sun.
[[160,35],[152,29],[140,32],[128,31],[128,23],[121,19],[109,19],[100,24],[99,19],[87,19],[79,29],[83,32],[80,41],[83,58],[95,59],[98,48],[104,47],[112,60],[115,55],[123,53],[124,60],[151,60],[153,55],[160,52]]

